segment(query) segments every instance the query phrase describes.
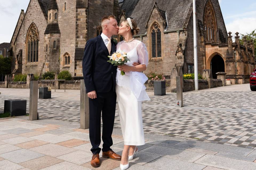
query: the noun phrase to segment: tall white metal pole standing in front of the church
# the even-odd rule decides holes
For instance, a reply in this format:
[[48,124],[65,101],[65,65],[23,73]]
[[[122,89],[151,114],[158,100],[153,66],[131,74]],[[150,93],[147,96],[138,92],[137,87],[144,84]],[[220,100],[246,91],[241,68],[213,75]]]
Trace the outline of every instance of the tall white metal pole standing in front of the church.
[[193,28],[194,28],[194,74],[195,90],[198,90],[198,67],[197,67],[197,13],[195,9],[195,0],[193,0]]

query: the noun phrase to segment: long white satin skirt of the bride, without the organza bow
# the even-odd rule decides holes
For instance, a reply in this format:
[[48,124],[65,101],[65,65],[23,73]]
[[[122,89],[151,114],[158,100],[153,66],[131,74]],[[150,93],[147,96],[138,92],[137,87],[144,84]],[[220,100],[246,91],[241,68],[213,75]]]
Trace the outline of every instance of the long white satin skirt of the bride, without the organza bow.
[[141,114],[141,101],[129,86],[116,85],[117,104],[124,145],[145,145]]

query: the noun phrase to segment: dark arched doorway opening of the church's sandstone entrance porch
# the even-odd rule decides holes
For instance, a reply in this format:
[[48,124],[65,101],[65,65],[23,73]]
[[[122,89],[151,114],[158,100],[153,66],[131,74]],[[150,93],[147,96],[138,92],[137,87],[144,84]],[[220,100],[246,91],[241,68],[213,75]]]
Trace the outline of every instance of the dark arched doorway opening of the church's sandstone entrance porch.
[[215,55],[211,59],[211,73],[213,75],[213,79],[217,79],[218,72],[225,72],[225,62],[223,58],[219,55]]

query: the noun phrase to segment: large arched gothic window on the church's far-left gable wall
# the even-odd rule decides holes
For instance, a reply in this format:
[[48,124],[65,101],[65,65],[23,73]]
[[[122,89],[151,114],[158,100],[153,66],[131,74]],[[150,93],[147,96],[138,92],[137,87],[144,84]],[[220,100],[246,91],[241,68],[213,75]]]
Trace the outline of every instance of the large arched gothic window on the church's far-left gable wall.
[[38,62],[39,36],[37,27],[33,23],[30,25],[29,31],[27,32],[26,44],[27,62]]

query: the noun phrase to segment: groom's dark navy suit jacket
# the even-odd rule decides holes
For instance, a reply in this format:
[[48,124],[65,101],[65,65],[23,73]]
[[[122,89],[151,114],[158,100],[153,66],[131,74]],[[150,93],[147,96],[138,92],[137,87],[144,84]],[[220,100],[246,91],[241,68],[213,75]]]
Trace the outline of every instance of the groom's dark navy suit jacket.
[[[111,54],[115,52],[115,44],[111,40]],[[115,91],[115,77],[117,66],[107,62],[109,52],[101,35],[87,41],[83,56],[83,78],[86,93],[96,91],[97,93],[109,92],[111,87]]]

